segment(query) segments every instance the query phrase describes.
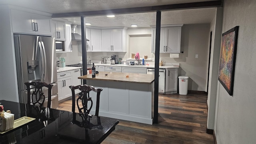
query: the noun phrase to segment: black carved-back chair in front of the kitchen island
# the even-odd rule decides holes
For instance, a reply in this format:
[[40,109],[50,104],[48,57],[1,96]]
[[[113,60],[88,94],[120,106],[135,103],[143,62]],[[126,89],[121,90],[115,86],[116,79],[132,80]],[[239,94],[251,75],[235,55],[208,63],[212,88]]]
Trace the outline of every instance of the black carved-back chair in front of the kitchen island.
[[[84,126],[86,124],[90,124],[90,111],[92,109],[92,98],[90,97],[90,92],[96,92],[96,110],[95,110],[95,116],[99,115],[99,107],[100,107],[100,92],[102,91],[101,88],[94,88],[93,86],[88,86],[86,84],[84,85],[78,85],[78,86],[69,86],[69,88],[72,91],[72,112],[73,112],[73,119],[72,124],[76,123],[80,126]],[[81,92],[78,95],[78,98],[76,100],[75,96],[75,90],[80,90]],[[82,107],[80,108],[79,104],[82,104]],[[76,113],[75,113],[75,106],[77,105],[79,116],[82,118],[82,122],[78,122],[76,120]]]

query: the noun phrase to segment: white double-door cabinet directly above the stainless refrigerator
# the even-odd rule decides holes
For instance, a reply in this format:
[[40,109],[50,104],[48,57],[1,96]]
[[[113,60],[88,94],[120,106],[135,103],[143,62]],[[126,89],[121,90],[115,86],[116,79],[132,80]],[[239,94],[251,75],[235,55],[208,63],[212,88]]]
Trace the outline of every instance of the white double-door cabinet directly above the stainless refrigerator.
[[52,36],[52,18],[19,10],[11,10],[14,33]]

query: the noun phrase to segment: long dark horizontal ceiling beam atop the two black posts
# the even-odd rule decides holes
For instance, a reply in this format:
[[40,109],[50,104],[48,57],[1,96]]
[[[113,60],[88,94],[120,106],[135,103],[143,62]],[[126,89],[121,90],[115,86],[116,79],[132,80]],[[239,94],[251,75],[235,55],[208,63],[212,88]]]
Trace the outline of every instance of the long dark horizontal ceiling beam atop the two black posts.
[[52,14],[52,18],[63,18],[63,17],[77,17],[77,16],[100,16],[106,14],[130,14],[140,12],[155,12],[156,10],[179,10],[179,9],[191,9],[191,8],[212,8],[222,6],[222,0],[214,0],[207,2],[192,2],[185,4],[169,4],[161,6],[145,6],[138,8],[120,8],[113,10],[96,10],[88,12],[69,12],[69,13],[58,13]]

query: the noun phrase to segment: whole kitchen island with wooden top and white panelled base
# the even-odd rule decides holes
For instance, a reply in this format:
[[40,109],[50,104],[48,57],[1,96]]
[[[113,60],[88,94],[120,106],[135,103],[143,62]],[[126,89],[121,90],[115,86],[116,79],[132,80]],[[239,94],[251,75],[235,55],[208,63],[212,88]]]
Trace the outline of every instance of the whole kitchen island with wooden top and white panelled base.
[[[145,124],[153,123],[154,116],[154,75],[99,72],[78,77],[87,85],[102,88],[100,93],[99,116],[117,118]],[[90,93],[96,102],[96,94]],[[91,114],[95,114],[95,104]]]

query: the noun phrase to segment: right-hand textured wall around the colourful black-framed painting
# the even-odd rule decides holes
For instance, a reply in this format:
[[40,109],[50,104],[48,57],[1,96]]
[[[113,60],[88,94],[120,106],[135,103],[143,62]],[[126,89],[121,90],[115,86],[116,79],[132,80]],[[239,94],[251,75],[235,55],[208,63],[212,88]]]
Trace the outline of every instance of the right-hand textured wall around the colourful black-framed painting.
[[239,26],[234,91],[218,82],[215,134],[218,144],[255,144],[256,1],[224,0],[222,33]]

